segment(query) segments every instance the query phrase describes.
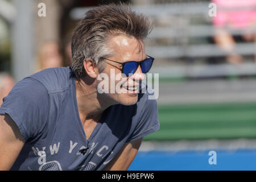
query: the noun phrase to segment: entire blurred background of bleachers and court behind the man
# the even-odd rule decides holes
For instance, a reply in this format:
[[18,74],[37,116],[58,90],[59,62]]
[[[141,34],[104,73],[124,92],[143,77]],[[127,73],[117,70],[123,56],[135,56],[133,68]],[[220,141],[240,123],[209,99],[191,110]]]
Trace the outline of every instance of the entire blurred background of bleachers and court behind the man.
[[[67,67],[73,28],[110,2],[0,0],[0,104],[22,78]],[[256,0],[125,2],[154,20],[145,44],[159,73],[160,130],[129,170],[255,170]]]

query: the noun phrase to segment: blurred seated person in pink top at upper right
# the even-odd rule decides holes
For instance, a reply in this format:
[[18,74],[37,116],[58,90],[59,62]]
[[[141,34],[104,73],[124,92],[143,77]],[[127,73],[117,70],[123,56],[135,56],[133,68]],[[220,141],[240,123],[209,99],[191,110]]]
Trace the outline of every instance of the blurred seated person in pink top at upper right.
[[[212,2],[217,5],[217,16],[213,17],[216,28],[214,42],[228,54],[226,60],[229,63],[240,64],[243,62],[243,57],[235,51],[236,43],[256,44],[256,0],[212,0]],[[240,31],[241,36],[233,36],[229,32],[230,29]],[[254,57],[256,61],[256,51]]]

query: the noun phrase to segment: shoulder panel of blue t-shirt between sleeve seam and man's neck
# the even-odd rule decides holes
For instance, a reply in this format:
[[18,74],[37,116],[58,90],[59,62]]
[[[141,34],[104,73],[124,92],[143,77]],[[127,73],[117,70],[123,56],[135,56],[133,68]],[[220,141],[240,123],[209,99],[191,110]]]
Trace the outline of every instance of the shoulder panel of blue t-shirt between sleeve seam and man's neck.
[[48,68],[34,73],[27,78],[33,78],[46,87],[49,93],[62,92],[72,83],[71,69],[69,67]]

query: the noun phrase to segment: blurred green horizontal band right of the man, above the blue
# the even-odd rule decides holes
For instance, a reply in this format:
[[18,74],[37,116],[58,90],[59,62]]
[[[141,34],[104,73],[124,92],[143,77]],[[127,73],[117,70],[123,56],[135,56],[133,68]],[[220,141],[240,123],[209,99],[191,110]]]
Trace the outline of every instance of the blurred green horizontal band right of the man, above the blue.
[[256,102],[159,106],[160,130],[144,140],[256,138]]

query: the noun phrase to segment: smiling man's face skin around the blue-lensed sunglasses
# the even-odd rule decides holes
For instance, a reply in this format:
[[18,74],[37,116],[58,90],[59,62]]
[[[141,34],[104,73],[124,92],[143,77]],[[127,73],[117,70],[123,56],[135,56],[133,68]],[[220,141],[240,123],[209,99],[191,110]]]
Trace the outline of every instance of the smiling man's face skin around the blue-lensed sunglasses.
[[[144,44],[135,39],[125,35],[113,36],[108,41],[108,46],[114,51],[114,55],[106,57],[107,59],[125,63],[127,61],[142,61],[146,59],[144,51]],[[109,77],[109,92],[104,93],[108,100],[114,101],[116,104],[133,105],[138,101],[139,84],[144,79],[144,74],[139,66],[137,71],[131,76],[122,76],[117,78],[117,75],[122,73],[122,64],[113,61],[104,60],[105,69],[101,73],[106,73]],[[114,73],[114,75],[113,75]],[[114,83],[115,92],[110,92],[113,89]]]

